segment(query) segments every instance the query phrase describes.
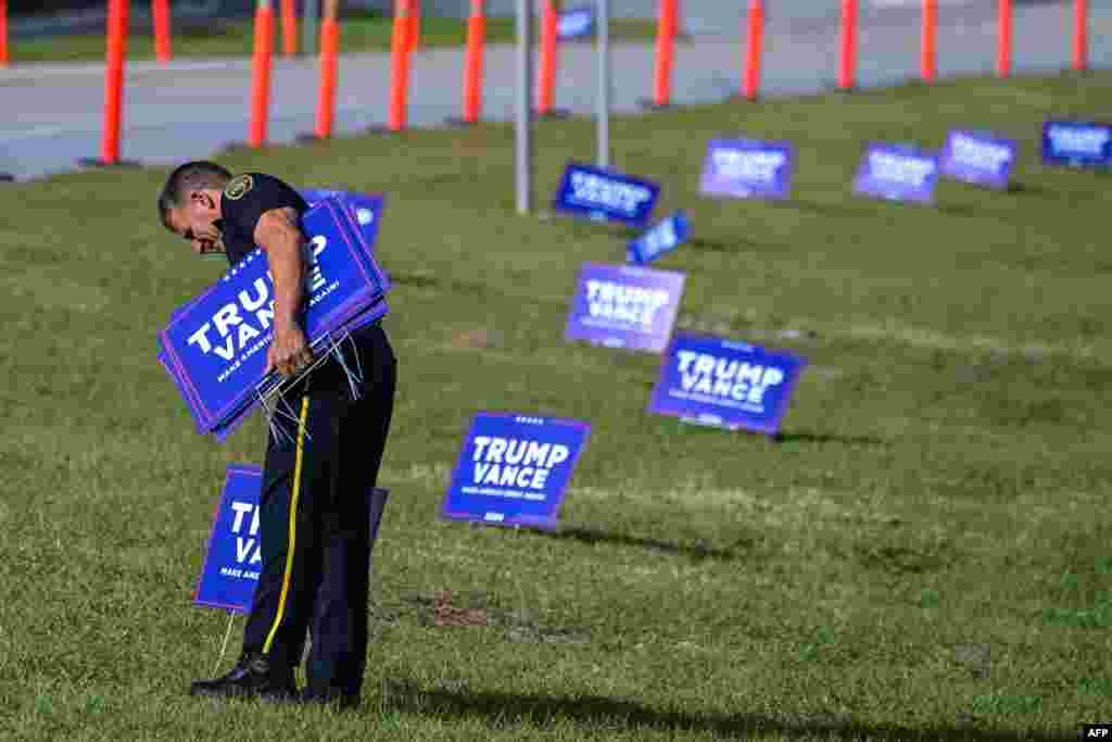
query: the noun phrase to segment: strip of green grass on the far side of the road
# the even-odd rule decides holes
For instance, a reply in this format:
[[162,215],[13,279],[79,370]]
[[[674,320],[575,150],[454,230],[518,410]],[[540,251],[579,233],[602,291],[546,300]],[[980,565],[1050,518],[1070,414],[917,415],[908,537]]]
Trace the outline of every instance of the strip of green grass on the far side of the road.
[[[346,13],[341,17],[340,50],[387,51],[390,48],[393,19],[379,14]],[[467,23],[450,18],[421,19],[420,48],[459,47],[467,39]],[[254,44],[251,21],[206,22],[171,27],[171,53],[183,57],[247,57]],[[632,41],[655,38],[656,23],[648,20],[614,19],[610,36],[615,40]],[[488,43],[508,43],[516,38],[513,18],[487,19]],[[282,50],[281,22],[276,16],[275,52]],[[590,43],[576,40],[573,43]],[[301,46],[298,31],[298,47]],[[12,65],[29,62],[76,62],[105,59],[105,34],[79,34],[41,39],[13,39],[9,55]],[[150,29],[132,31],[128,38],[128,59],[155,59],[155,39]]]

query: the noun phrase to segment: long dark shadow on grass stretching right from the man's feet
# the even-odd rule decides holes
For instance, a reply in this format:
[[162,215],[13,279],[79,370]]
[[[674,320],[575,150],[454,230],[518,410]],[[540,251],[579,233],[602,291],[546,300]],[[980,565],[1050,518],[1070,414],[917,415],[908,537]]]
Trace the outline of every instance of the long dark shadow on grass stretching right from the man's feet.
[[474,692],[463,689],[420,689],[410,681],[390,681],[389,705],[394,710],[416,714],[438,714],[455,718],[485,716],[489,723],[503,725],[528,723],[546,725],[573,720],[592,726],[615,725],[628,730],[653,729],[667,732],[708,733],[715,738],[747,738],[753,734],[788,733],[822,734],[824,739],[842,740],[1029,740],[1050,742],[1074,740],[1073,734],[1045,732],[1007,732],[970,726],[939,729],[905,729],[858,724],[835,714],[693,714],[658,711],[634,701],[599,695],[560,698],[519,693]]

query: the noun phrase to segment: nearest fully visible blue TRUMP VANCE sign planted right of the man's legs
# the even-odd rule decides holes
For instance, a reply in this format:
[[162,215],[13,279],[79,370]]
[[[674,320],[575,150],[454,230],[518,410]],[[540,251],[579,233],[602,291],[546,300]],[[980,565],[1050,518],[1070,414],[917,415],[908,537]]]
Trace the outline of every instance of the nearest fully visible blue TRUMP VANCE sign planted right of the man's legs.
[[440,517],[555,528],[590,426],[573,419],[479,413],[459,451]]

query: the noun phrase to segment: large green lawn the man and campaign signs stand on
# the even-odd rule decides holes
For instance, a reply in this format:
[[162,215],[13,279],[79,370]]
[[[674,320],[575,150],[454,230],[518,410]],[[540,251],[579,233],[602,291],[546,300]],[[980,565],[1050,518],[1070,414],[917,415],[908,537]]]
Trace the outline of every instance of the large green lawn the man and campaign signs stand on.
[[[617,166],[694,224],[658,264],[687,275],[681,326],[810,359],[780,441],[649,416],[657,357],[564,342],[579,265],[625,236],[516,217],[509,127],[226,158],[388,196],[393,496],[346,715],[186,695],[227,625],[190,605],[212,507],[264,426],[197,436],[155,359],[221,270],[158,225],[167,170],[6,186],[0,735],[1075,739],[1112,709],[1112,181],[1037,139],[1109,96],[1106,72],[963,80],[615,126]],[[547,200],[594,127],[538,126]],[[864,142],[953,127],[1019,139],[1019,188],[851,195]],[[793,199],[699,197],[723,133],[792,140]],[[560,532],[437,520],[484,409],[592,423]]]

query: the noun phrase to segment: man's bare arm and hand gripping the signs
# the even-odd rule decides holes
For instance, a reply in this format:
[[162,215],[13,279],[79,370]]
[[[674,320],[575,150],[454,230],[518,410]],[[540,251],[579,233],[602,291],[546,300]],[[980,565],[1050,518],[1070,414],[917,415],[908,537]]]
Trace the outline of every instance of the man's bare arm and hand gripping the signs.
[[267,369],[291,376],[312,362],[305,334],[297,324],[305,291],[301,250],[305,235],[291,208],[271,209],[259,217],[255,244],[267,254],[275,281],[275,337],[267,352]]

